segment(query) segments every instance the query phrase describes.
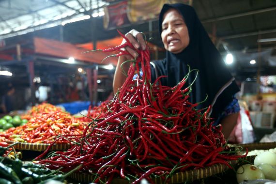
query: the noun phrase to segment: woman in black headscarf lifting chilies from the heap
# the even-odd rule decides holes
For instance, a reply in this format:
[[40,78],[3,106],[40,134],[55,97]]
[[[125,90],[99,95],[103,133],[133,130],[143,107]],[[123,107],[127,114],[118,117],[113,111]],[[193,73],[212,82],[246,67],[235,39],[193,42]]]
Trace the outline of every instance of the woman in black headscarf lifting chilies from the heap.
[[[195,10],[184,4],[165,4],[159,15],[159,31],[166,49],[166,58],[153,61],[152,79],[161,79],[162,85],[175,86],[191,69],[198,69],[199,75],[192,86],[190,101],[201,102],[198,109],[213,106],[211,117],[223,126],[222,132],[228,138],[236,124],[239,106],[234,94],[239,91],[226,64],[215,48],[207,32],[196,15]],[[145,49],[146,44],[141,33],[132,30],[126,34],[130,42],[138,49]],[[123,41],[125,42],[125,41]],[[131,48],[125,48],[131,56],[122,56],[118,60],[113,80],[113,91],[123,85],[125,76],[122,73],[123,61],[136,58],[138,54]],[[129,64],[124,64],[127,71]],[[196,77],[192,72],[188,84]],[[187,84],[187,85],[188,85]]]

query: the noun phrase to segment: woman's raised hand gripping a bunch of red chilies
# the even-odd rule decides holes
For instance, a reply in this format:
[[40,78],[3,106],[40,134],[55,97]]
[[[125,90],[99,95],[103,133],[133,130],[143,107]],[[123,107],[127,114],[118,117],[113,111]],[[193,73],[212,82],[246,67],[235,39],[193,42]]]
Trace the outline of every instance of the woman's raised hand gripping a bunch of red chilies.
[[[141,32],[138,32],[137,30],[131,30],[125,34],[125,37],[136,49],[142,49],[142,50],[146,49],[146,42]],[[122,44],[124,43],[126,43],[125,39],[123,39]],[[126,46],[125,49],[129,52],[129,54],[132,57],[127,59],[136,59],[138,57],[138,53],[134,49],[130,48],[129,46]]]

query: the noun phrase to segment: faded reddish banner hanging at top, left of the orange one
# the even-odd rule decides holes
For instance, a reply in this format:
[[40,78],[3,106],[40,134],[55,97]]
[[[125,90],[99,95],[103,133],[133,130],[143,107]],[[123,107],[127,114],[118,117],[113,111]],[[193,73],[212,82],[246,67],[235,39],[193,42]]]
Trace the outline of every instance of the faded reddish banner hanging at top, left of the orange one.
[[104,27],[105,29],[117,28],[129,24],[127,0],[105,7]]

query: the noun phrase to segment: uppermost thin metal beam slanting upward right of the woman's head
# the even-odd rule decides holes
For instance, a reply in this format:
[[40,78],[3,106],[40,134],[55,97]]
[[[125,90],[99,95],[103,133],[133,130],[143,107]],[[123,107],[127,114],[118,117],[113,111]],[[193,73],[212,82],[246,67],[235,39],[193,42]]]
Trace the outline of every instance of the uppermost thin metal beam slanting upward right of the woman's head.
[[276,7],[264,8],[261,10],[253,10],[253,11],[240,13],[240,14],[226,15],[226,16],[220,16],[220,17],[216,17],[216,18],[205,19],[205,20],[201,20],[201,23],[204,24],[204,23],[216,22],[216,21],[227,20],[227,19],[231,19],[231,18],[237,18],[237,17],[241,17],[241,16],[270,12],[270,11],[276,11]]

